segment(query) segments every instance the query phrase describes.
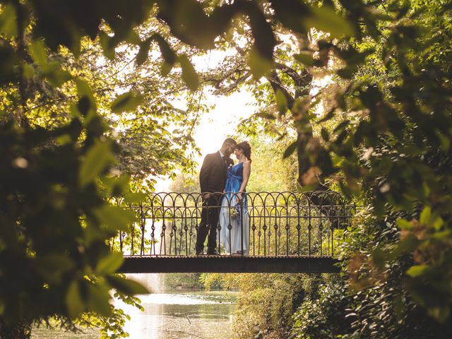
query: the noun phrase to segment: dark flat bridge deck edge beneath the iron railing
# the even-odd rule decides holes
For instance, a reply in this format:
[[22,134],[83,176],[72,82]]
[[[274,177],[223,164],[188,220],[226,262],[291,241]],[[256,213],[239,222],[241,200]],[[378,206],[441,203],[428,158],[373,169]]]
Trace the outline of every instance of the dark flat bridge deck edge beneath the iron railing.
[[338,273],[331,256],[124,256],[121,273]]

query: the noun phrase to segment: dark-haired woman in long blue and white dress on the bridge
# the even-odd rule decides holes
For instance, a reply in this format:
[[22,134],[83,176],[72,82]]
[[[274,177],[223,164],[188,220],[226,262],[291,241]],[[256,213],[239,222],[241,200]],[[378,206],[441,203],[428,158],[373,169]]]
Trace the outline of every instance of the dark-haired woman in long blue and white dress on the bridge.
[[229,254],[248,255],[249,214],[246,184],[251,173],[251,146],[247,141],[238,143],[234,153],[239,162],[227,169],[218,242]]

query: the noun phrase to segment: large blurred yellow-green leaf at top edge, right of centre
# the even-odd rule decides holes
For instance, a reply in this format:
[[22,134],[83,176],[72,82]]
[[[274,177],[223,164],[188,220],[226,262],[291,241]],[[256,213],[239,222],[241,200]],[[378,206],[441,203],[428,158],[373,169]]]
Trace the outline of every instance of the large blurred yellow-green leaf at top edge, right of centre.
[[311,16],[305,19],[308,27],[315,27],[323,32],[329,32],[331,37],[354,35],[353,26],[330,6],[311,6]]

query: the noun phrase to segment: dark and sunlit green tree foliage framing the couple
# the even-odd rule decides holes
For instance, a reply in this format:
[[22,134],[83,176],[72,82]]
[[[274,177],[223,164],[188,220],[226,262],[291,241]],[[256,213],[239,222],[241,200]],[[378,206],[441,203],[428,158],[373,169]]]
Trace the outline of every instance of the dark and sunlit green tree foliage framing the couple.
[[[374,233],[370,242],[349,230],[350,286],[366,291],[362,300],[372,305],[373,287],[400,283],[412,310],[446,324],[452,304],[450,9],[450,1],[422,0],[1,1],[1,335],[49,316],[107,315],[110,288],[141,291],[113,274],[121,257],[108,253],[107,239],[132,216],[107,198],[127,186],[126,177],[112,176],[114,154],[124,172],[141,178],[165,171],[161,162],[139,158],[145,150],[170,168],[190,165],[184,149],[196,114],[178,117],[158,95],[151,104],[171,71],[183,81],[174,90],[182,91],[202,81],[231,90],[264,77],[268,84],[256,93],[273,90],[273,111],[260,117],[280,119],[283,129],[295,126],[297,138],[285,154],[297,150],[304,189],[333,183],[373,218],[363,226],[364,234]],[[155,24],[141,31],[147,20]],[[311,28],[328,34],[309,44]],[[282,33],[295,37],[296,49],[278,46]],[[83,48],[91,43],[102,53]],[[238,68],[198,77],[191,54],[217,45],[237,49]],[[153,59],[151,47],[161,57]],[[148,78],[98,73],[116,58],[134,60],[143,71],[148,66]],[[92,77],[83,75],[88,64]],[[311,71],[325,69],[333,70],[335,86],[318,118],[321,96],[308,90]],[[110,81],[124,90],[109,93]],[[138,113],[136,124],[126,111]],[[181,131],[160,126],[155,115],[168,113]],[[192,124],[183,124],[187,117]],[[108,119],[128,133],[115,136]],[[392,274],[393,265],[402,268]],[[400,304],[387,296],[393,307]],[[365,323],[371,316],[358,318]]]

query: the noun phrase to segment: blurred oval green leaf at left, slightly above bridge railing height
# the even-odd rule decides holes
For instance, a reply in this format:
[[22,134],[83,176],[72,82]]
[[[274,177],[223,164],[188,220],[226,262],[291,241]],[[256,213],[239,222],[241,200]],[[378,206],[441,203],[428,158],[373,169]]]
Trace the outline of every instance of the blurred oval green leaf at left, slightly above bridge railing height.
[[81,186],[93,182],[112,162],[109,143],[98,142],[86,153],[78,172],[78,181]]

